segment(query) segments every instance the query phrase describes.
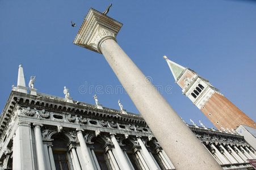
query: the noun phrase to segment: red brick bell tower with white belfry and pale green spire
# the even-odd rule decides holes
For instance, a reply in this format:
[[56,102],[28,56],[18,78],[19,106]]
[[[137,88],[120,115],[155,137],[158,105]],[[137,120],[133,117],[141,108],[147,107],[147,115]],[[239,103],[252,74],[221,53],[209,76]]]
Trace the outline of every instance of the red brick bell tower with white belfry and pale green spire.
[[191,69],[170,61],[166,56],[163,58],[171,69],[175,83],[182,88],[182,94],[186,95],[216,128],[233,130],[240,125],[256,128],[256,123],[226,99],[207,79]]

